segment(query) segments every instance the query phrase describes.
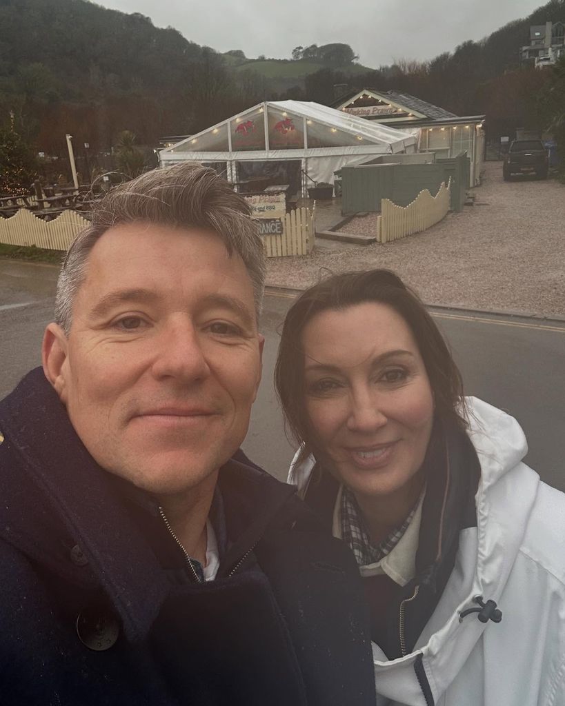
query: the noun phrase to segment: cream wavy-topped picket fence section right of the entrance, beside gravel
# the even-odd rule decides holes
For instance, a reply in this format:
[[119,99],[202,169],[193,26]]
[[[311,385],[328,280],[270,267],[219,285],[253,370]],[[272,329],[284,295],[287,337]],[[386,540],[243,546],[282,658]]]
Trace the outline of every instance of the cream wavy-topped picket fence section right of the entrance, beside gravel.
[[424,189],[408,206],[398,206],[383,198],[376,229],[377,241],[389,243],[432,227],[446,216],[450,200],[451,177],[447,185],[441,184],[436,196]]

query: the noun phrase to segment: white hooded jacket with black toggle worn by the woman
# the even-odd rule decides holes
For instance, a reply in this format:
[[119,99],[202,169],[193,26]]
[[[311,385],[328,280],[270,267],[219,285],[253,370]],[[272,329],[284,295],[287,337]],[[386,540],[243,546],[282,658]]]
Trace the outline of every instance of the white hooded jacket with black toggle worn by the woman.
[[[477,527],[460,532],[414,650],[389,661],[373,645],[377,705],[565,706],[565,495],[521,462],[528,445],[516,419],[476,398],[468,405]],[[313,458],[293,461],[288,481],[304,491],[313,467]],[[501,623],[476,613],[460,621],[477,596],[497,604]]]

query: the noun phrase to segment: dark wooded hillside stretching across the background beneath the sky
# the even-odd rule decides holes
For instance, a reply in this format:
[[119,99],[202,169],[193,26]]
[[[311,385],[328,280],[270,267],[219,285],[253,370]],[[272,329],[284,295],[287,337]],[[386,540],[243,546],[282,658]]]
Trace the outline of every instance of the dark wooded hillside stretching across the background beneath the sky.
[[544,78],[516,74],[518,50],[530,24],[549,19],[565,21],[565,0],[432,61],[376,70],[357,64],[353,49],[339,42],[296,47],[293,59],[249,59],[89,0],[1,0],[0,126],[13,124],[51,155],[64,155],[65,133],[88,143],[91,155],[109,153],[124,130],[155,145],[160,136],[196,132],[261,100],[331,103],[336,83],[405,90],[458,114],[489,112],[496,103],[501,119],[518,120],[523,111],[516,106],[531,100]]

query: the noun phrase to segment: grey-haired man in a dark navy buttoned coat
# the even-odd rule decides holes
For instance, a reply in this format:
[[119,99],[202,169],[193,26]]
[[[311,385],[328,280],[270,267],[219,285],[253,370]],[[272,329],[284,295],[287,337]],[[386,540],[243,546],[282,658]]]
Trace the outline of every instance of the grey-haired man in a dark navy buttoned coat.
[[264,273],[203,167],[115,189],[71,246],[0,403],[4,706],[374,702],[355,562],[239,451]]

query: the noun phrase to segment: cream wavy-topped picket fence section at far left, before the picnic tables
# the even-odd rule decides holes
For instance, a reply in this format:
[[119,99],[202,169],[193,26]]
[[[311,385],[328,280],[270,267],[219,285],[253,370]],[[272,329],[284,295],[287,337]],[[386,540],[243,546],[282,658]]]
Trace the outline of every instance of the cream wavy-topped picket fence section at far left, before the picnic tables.
[[89,221],[76,211],[63,211],[47,222],[27,208],[20,208],[11,218],[0,218],[0,243],[66,250],[76,234],[87,225]]

